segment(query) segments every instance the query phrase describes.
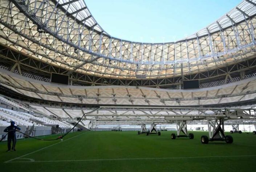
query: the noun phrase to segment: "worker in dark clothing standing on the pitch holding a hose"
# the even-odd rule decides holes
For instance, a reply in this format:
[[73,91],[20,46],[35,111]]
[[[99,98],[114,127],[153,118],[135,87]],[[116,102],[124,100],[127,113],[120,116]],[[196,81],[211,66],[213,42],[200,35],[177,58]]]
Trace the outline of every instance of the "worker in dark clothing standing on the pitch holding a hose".
[[14,121],[11,121],[11,125],[4,129],[4,132],[8,132],[8,137],[7,137],[8,150],[7,150],[7,152],[11,151],[11,142],[12,142],[12,150],[16,151],[15,150],[16,131],[20,131],[20,128],[15,126],[15,122]]

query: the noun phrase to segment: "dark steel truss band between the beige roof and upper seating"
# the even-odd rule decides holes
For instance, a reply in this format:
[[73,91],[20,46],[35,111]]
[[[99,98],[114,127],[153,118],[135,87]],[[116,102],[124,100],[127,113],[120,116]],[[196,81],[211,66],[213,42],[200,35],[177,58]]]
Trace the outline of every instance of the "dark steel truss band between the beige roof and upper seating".
[[[19,74],[28,73],[39,75],[44,78],[50,79],[50,74],[60,73],[65,74],[66,69],[56,66],[45,61],[37,60],[32,56],[24,55],[11,48],[0,46],[0,62],[5,65],[9,70],[16,70]],[[245,75],[256,73],[256,58],[251,60],[239,62],[226,67],[219,67],[207,72],[199,72],[197,74],[184,75],[184,80],[199,79],[200,84],[208,83],[216,80],[223,80],[223,84],[233,82],[233,78],[241,77],[241,72]],[[96,77],[88,74],[81,74],[74,72],[70,74],[70,83],[73,85],[126,85],[126,86],[148,86],[148,87],[170,87],[176,89],[176,86],[182,84],[181,77],[174,78],[158,78],[158,79],[111,79],[103,77]]]

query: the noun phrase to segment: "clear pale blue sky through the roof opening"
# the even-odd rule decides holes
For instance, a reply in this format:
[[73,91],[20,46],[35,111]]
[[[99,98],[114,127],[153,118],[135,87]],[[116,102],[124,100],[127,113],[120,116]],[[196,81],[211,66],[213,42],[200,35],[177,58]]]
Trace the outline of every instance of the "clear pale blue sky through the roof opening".
[[172,42],[229,12],[241,0],[85,0],[113,37],[138,42]]

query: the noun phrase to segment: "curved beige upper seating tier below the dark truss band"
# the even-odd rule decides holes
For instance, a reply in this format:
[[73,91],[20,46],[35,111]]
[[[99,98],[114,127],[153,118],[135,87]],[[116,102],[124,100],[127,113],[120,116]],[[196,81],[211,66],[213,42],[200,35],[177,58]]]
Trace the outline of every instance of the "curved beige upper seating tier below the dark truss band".
[[[66,103],[192,106],[256,98],[256,78],[194,90],[166,90],[134,86],[65,86],[36,81],[8,71],[0,74],[0,81],[1,85],[11,87],[18,93],[38,99]],[[59,115],[65,118],[69,117],[66,112],[60,112]]]

